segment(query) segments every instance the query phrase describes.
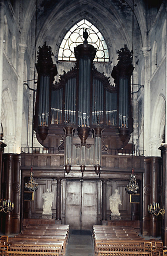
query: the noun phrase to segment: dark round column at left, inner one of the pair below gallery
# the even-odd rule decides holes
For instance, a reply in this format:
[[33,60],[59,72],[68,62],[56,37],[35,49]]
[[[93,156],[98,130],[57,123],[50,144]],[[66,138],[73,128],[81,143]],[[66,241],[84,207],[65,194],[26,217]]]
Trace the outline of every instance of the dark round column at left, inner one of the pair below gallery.
[[12,211],[12,233],[20,232],[20,182],[21,182],[21,172],[20,172],[20,162],[21,155],[15,154],[13,157],[13,183],[12,183],[12,193],[13,193],[13,203],[14,209]]

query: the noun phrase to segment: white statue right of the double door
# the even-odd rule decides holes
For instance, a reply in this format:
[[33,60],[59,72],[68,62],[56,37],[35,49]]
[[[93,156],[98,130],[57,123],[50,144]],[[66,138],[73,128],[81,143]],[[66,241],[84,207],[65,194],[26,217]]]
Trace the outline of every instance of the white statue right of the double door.
[[120,195],[118,194],[118,190],[115,189],[115,193],[109,197],[109,207],[111,210],[111,216],[120,215],[118,208],[119,204],[121,204]]

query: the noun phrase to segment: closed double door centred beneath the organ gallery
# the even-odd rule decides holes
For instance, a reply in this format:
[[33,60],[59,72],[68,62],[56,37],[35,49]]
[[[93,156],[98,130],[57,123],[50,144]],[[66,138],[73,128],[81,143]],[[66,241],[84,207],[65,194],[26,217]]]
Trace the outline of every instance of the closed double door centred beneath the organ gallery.
[[92,229],[97,224],[99,181],[66,182],[65,222],[71,229]]

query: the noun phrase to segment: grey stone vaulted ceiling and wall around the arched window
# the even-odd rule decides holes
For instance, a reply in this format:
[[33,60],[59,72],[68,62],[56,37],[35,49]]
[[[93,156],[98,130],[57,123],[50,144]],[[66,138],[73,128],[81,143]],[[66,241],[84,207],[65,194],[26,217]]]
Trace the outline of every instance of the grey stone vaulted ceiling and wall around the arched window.
[[86,18],[102,33],[115,62],[116,51],[124,44],[135,55],[147,45],[148,14],[156,15],[159,4],[156,0],[24,0],[22,41],[26,43],[30,22],[36,18],[36,45],[47,41],[56,54],[70,27]]

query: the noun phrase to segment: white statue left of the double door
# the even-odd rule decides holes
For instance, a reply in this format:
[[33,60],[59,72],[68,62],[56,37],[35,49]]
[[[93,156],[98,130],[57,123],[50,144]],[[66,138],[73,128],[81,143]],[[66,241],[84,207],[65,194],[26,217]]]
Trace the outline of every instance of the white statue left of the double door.
[[43,202],[43,212],[42,214],[51,214],[51,206],[54,199],[54,193],[50,192],[50,189],[47,188],[46,192],[42,194]]

